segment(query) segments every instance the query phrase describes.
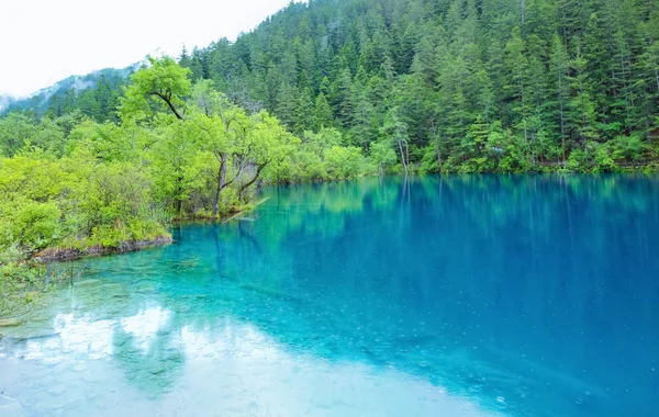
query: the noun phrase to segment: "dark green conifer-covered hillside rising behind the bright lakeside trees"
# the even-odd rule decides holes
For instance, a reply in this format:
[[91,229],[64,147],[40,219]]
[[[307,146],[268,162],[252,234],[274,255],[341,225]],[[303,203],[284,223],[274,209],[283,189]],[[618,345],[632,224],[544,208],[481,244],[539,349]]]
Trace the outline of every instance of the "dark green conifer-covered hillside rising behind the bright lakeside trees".
[[[657,159],[658,36],[654,1],[313,0],[179,59],[299,136],[332,126],[405,170],[615,170]],[[116,120],[114,80],[24,104]]]

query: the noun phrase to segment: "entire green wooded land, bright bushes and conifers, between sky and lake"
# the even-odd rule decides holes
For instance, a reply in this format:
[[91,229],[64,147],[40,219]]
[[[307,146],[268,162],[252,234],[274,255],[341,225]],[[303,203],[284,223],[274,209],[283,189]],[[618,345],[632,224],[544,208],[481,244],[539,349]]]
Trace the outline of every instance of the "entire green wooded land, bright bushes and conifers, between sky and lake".
[[[651,170],[656,0],[312,0],[0,117],[0,268],[121,247],[261,184]],[[41,101],[40,101],[41,100]]]

